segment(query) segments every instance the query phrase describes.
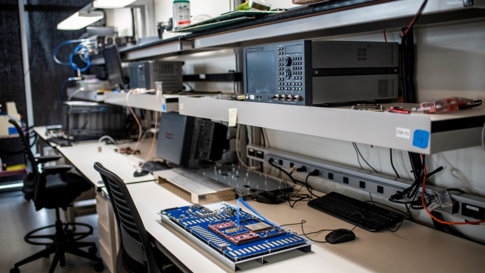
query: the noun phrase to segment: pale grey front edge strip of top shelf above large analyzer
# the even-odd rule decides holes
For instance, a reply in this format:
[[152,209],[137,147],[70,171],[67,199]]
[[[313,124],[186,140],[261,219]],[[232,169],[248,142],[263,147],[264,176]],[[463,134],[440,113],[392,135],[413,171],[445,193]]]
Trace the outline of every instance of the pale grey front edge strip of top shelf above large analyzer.
[[[367,23],[399,20],[402,18],[413,17],[421,4],[422,0],[399,0],[356,7],[342,11],[329,11],[328,13],[320,15],[195,38],[193,46],[196,49],[210,48],[223,44],[237,44],[239,42],[245,42],[248,40],[267,39],[338,27],[358,26]],[[443,0],[429,0],[422,14],[430,15],[470,8],[476,9],[483,8],[485,5],[483,0],[475,0],[472,7],[463,7],[462,3],[459,4],[461,5],[450,5],[447,1]],[[453,21],[453,19],[443,20]],[[403,26],[404,25],[401,25],[401,27]],[[370,30],[371,29],[364,27],[363,29],[358,30],[358,32],[367,32]]]

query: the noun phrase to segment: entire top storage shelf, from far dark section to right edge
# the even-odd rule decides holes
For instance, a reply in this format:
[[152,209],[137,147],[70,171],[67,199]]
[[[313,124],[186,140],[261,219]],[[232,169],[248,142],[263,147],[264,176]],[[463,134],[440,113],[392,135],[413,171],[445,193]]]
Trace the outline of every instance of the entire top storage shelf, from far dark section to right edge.
[[[377,4],[376,4],[377,3]],[[267,15],[226,27],[121,49],[123,61],[221,48],[312,39],[400,28],[409,24],[422,0],[332,1]],[[485,0],[429,0],[416,25],[485,17]]]

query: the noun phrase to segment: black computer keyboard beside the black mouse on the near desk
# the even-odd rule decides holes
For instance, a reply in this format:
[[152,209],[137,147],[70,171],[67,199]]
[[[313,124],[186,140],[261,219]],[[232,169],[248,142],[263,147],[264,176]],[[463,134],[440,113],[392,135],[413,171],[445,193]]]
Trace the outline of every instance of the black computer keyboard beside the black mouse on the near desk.
[[370,232],[389,228],[401,222],[404,217],[394,211],[334,192],[309,201],[308,206]]

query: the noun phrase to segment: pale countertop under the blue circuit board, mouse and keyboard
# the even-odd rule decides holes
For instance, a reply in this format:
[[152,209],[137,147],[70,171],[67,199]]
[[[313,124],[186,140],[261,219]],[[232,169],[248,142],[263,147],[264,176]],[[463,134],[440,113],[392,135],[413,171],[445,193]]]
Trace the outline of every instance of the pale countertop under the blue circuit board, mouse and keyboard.
[[[180,190],[169,191],[156,183],[127,185],[147,231],[193,272],[232,272],[169,226],[161,223],[161,209],[186,206],[188,196]],[[303,191],[303,190],[302,190]],[[181,197],[182,196],[182,197]],[[352,229],[353,225],[299,202],[292,209],[279,205],[248,201],[258,212],[277,224],[306,220],[305,232],[321,229]],[[235,200],[229,201],[235,206]],[[248,211],[246,209],[246,211]],[[287,226],[302,233],[301,225]],[[315,243],[312,252],[288,251],[265,258],[269,263],[253,262],[243,267],[251,272],[481,272],[485,268],[485,246],[435,231],[426,226],[404,222],[398,232],[371,233],[354,230],[357,238],[348,243]],[[309,235],[323,241],[328,232]],[[248,268],[249,267],[249,268]],[[252,268],[251,268],[252,267]]]

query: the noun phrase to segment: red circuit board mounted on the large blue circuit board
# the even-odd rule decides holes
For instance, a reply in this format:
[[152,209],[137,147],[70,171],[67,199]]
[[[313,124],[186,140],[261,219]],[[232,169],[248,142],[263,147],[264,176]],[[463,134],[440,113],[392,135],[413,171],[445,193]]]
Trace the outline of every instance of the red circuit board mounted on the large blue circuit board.
[[244,226],[237,225],[233,221],[210,224],[207,227],[209,228],[209,230],[222,236],[234,245],[246,243],[261,238],[259,234],[256,234],[246,229]]

